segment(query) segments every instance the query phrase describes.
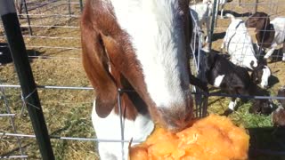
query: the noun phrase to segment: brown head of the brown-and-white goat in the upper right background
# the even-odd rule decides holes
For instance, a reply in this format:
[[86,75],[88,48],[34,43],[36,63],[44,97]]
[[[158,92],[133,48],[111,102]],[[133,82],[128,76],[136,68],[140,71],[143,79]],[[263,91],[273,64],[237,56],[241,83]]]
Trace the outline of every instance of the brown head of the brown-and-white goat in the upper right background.
[[256,28],[257,30],[265,30],[265,27],[270,25],[270,19],[265,12],[256,12],[251,15],[246,21],[247,28]]

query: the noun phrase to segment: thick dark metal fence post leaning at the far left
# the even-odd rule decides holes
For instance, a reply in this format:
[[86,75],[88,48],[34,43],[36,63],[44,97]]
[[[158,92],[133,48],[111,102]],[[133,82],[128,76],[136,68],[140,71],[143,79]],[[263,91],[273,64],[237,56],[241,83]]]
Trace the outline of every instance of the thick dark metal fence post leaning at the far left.
[[0,0],[0,15],[12,53],[23,100],[28,108],[28,114],[37,138],[37,144],[44,160],[53,160],[53,148],[47,132],[45,117],[37,94],[34,76],[28,61],[28,54],[20,32],[20,23],[15,6],[11,0]]

